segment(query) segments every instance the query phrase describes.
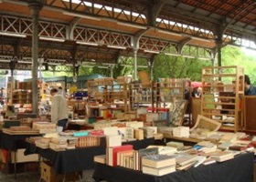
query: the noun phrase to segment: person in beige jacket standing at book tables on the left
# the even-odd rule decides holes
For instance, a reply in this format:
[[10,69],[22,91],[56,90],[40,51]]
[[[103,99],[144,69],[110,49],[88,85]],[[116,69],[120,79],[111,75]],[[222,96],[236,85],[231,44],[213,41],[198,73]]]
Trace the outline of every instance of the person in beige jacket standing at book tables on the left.
[[56,88],[50,90],[50,95],[52,96],[51,122],[56,123],[57,126],[62,126],[62,130],[65,130],[69,118],[68,102]]

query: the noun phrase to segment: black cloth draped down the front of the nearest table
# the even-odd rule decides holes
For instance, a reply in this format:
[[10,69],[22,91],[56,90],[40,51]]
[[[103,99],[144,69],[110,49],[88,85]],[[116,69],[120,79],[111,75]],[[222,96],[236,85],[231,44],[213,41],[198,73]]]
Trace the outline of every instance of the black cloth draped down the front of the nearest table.
[[162,177],[147,175],[141,171],[125,167],[111,167],[96,163],[92,177],[96,181],[106,180],[112,182],[250,182],[252,181],[253,160],[253,153],[245,153],[222,163],[177,170]]

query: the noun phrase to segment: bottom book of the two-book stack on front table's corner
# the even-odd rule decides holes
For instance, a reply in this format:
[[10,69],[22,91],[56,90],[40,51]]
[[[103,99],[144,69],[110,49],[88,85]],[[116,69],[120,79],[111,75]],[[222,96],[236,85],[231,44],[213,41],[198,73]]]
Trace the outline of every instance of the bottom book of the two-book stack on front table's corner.
[[170,165],[167,167],[160,167],[160,168],[154,168],[154,167],[142,167],[142,171],[144,174],[149,175],[155,175],[157,177],[164,176],[166,174],[172,173],[176,171],[176,165]]

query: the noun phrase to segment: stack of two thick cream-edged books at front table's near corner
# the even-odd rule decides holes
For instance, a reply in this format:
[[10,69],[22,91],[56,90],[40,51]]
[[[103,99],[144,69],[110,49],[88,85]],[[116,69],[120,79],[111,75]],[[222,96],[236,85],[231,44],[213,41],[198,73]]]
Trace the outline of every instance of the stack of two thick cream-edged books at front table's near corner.
[[142,157],[142,171],[158,177],[172,173],[176,171],[176,158],[165,155]]

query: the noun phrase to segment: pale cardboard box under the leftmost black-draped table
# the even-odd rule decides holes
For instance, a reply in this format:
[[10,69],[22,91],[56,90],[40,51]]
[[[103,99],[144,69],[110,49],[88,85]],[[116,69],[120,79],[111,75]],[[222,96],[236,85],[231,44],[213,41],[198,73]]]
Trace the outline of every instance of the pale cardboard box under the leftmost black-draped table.
[[25,148],[17,149],[16,152],[12,151],[11,159],[12,163],[15,163],[15,156],[16,156],[16,163],[22,162],[37,162],[39,160],[39,156],[37,154],[31,155],[24,155]]

